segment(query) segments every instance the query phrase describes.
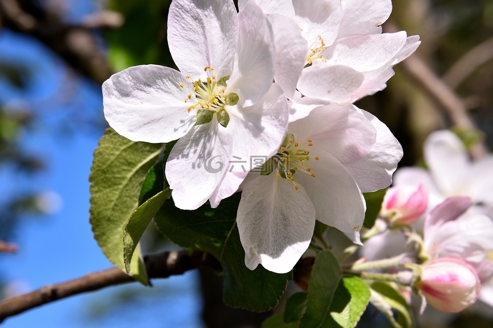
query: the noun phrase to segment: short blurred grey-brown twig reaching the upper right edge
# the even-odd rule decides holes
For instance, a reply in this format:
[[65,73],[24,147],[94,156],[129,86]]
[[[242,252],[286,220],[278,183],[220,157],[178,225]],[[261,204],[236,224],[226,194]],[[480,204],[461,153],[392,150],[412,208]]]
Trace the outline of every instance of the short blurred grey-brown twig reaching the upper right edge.
[[444,82],[456,89],[468,76],[480,66],[493,60],[493,37],[477,45],[462,56],[444,75]]

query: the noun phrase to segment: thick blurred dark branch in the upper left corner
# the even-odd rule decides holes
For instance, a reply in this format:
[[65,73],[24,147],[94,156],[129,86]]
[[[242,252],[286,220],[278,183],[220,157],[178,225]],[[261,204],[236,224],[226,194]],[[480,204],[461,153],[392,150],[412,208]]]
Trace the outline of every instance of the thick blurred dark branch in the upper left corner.
[[39,39],[72,68],[96,83],[103,83],[112,73],[90,29],[65,23],[31,0],[1,0],[0,24]]

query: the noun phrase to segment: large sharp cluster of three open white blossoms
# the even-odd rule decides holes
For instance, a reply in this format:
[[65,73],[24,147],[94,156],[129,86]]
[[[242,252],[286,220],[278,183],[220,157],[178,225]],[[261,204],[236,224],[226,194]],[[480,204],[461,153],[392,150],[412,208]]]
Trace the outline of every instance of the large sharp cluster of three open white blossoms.
[[[242,190],[245,264],[289,272],[315,220],[352,234],[363,192],[391,183],[402,148],[353,102],[386,87],[418,36],[382,33],[390,0],[173,0],[176,71],[128,68],[103,85],[104,114],[134,141],[177,140],[165,176],[175,205]],[[234,165],[255,156],[258,162]],[[217,168],[207,169],[215,159]]]

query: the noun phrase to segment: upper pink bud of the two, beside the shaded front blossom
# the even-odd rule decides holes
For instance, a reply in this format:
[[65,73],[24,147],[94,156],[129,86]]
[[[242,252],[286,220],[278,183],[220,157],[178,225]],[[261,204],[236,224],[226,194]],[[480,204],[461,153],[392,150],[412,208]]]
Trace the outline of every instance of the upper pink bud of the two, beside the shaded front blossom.
[[428,207],[428,189],[420,185],[397,186],[387,190],[380,214],[393,223],[412,224]]

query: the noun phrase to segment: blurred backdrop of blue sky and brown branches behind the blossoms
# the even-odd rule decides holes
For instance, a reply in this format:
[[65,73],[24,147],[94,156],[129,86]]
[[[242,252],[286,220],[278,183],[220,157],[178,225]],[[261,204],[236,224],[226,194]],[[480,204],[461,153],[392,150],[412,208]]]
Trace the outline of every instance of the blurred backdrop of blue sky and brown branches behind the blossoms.
[[[166,44],[169,3],[0,0],[0,298],[110,267],[88,221],[92,152],[106,128],[101,84],[130,66],[175,67]],[[456,125],[447,106],[465,109],[479,128],[459,129],[464,139],[483,138],[490,149],[493,0],[393,6],[384,30],[421,36],[417,64],[410,58],[397,65],[387,89],[356,105],[401,141],[402,166],[421,161],[428,133]],[[143,248],[173,245],[149,229]],[[154,282],[151,289],[118,286],[50,303],[3,326],[240,327],[263,318],[222,308],[220,277],[211,272]],[[469,325],[491,323],[478,311],[443,321]]]

